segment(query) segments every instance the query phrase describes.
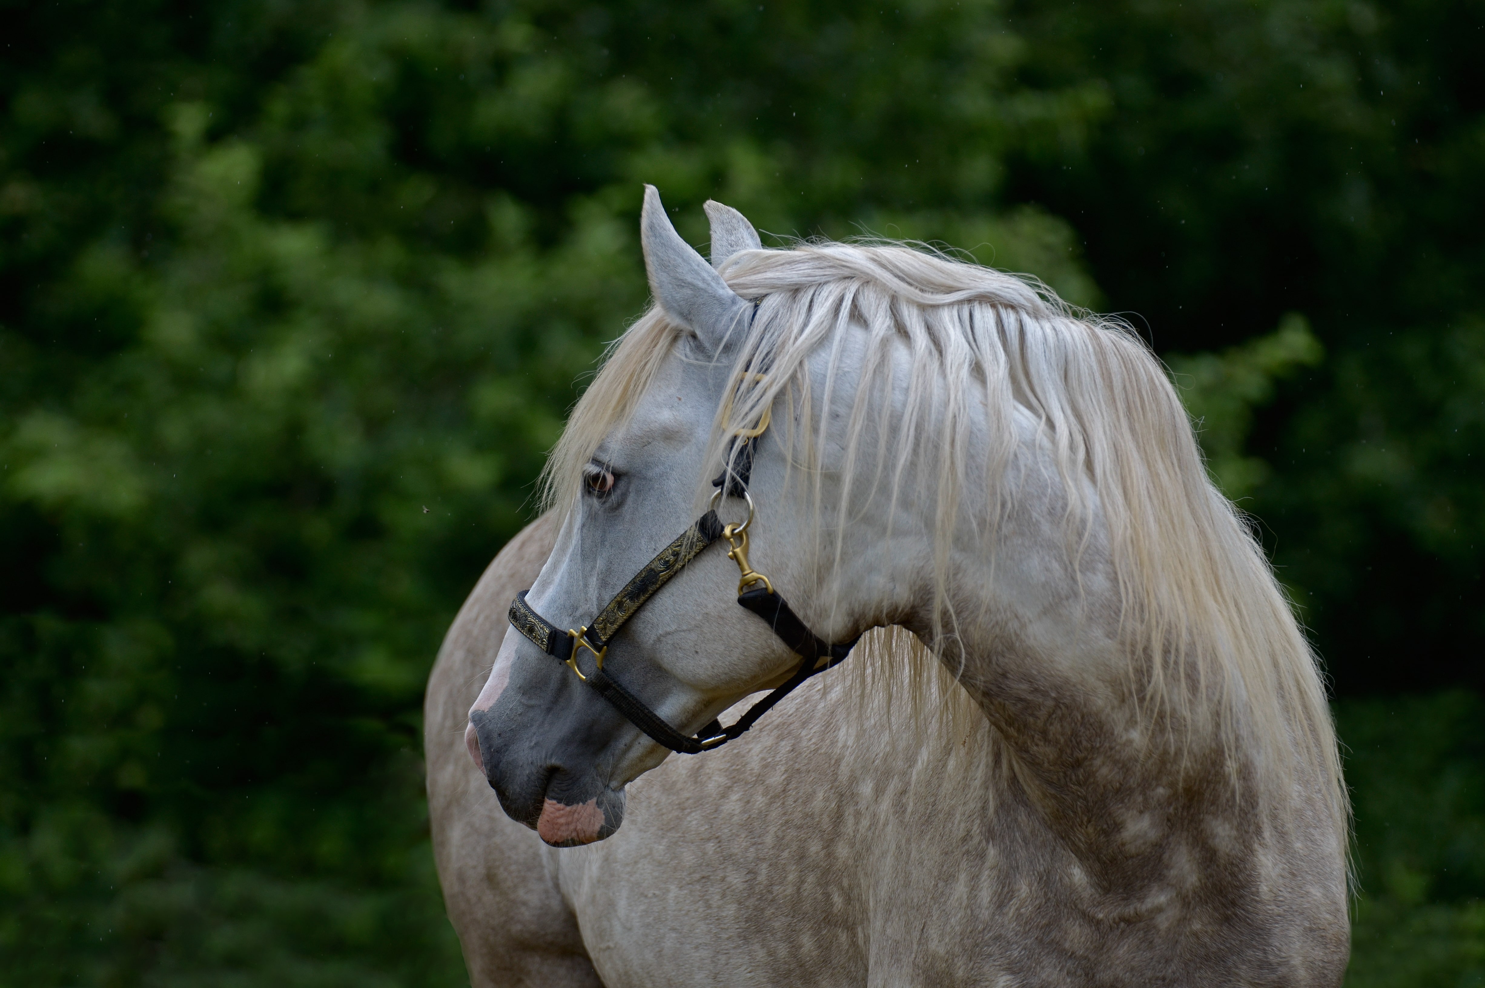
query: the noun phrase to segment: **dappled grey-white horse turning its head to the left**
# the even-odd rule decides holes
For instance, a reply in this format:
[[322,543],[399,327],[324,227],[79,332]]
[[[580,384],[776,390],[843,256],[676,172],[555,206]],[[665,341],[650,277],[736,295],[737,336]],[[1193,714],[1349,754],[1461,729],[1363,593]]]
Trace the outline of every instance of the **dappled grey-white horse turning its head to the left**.
[[[656,304],[429,682],[474,982],[1338,984],[1323,688],[1158,362],[1014,277],[763,251],[707,209],[716,269],[646,190]],[[705,516],[646,567],[723,467],[738,592],[766,574],[827,642],[894,628],[753,733],[668,758],[652,739],[716,743],[714,718],[824,654],[732,604]]]

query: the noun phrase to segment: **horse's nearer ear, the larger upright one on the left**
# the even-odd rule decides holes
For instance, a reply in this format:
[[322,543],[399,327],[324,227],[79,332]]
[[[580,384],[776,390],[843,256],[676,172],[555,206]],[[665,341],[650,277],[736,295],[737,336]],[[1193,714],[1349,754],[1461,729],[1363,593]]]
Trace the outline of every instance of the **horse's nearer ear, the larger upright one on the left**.
[[720,350],[748,304],[680,239],[653,185],[644,187],[640,240],[655,301],[665,314],[696,334],[702,346],[713,353]]

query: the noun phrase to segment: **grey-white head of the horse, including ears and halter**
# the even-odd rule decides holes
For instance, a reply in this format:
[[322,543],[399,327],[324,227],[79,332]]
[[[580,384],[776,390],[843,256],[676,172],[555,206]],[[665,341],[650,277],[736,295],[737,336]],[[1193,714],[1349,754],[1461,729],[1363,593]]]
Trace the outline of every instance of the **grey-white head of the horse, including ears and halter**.
[[[760,242],[737,211],[708,202],[707,212],[711,264],[646,187],[655,309],[621,343],[637,353],[610,359],[585,396],[590,435],[582,406],[569,424],[564,442],[587,452],[576,491],[560,494],[567,513],[552,556],[514,607],[515,626],[469,715],[469,752],[500,806],[555,846],[613,834],[624,786],[667,748],[714,746],[726,708],[845,651],[809,654],[806,669],[809,644],[787,633],[789,619],[800,619],[772,604],[783,599],[778,582],[811,614],[818,567],[796,513],[783,510],[787,457],[766,441],[775,399],[787,402],[750,363],[759,300],[741,298],[716,270]],[[637,369],[615,381],[616,362]],[[723,475],[717,487],[711,473]],[[737,605],[748,589],[753,613]],[[860,630],[836,616],[808,633],[846,641]]]

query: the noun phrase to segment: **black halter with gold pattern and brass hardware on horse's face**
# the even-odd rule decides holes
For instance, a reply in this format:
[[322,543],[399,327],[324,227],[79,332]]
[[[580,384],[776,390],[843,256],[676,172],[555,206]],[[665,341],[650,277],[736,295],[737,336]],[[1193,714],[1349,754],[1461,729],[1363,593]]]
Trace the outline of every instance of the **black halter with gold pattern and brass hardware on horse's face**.
[[[747,525],[753,519],[753,498],[747,494],[747,484],[753,473],[753,449],[757,442],[757,436],[762,435],[763,429],[768,427],[768,420],[757,430],[750,430],[742,447],[737,449],[735,457],[731,458],[731,467],[723,469],[722,476],[714,479],[711,485],[717,488],[716,494],[711,495],[711,503],[716,504],[722,497],[742,497],[748,501],[748,522],[740,525],[723,525],[717,518],[716,510],[708,510],[705,515],[696,519],[691,528],[683,531],[673,543],[661,549],[659,555],[649,561],[649,564],[634,574],[618,595],[609,601],[609,605],[598,611],[598,616],[593,619],[591,625],[579,628],[578,630],[561,632],[555,625],[548,622],[545,617],[536,613],[530,604],[526,602],[526,595],[529,590],[521,590],[515,595],[515,601],[511,604],[511,625],[515,630],[521,632],[530,638],[538,648],[545,651],[548,656],[567,663],[578,678],[587,682],[590,687],[598,691],[604,700],[612,703],[615,709],[630,719],[634,727],[640,728],[658,743],[665,748],[680,752],[683,755],[695,755],[702,751],[711,751],[713,748],[720,748],[735,737],[741,737],[757,718],[768,714],[769,709],[786,696],[793,693],[799,684],[802,684],[809,676],[824,672],[832,666],[839,665],[848,654],[860,636],[851,639],[849,642],[833,645],[823,641],[809,628],[799,620],[793,608],[784,601],[783,596],[774,592],[774,584],[769,583],[768,577],[762,573],[754,573],[747,561]],[[649,709],[643,700],[636,697],[633,693],[625,690],[616,679],[613,679],[607,672],[603,671],[603,656],[609,650],[609,642],[618,633],[624,622],[634,617],[634,613],[650,599],[656,590],[659,590],[665,583],[670,582],[680,568],[688,562],[695,559],[701,552],[717,541],[725,539],[732,547],[728,550],[728,558],[738,564],[742,571],[742,579],[738,580],[738,604],[753,611],[774,629],[786,645],[793,650],[794,654],[800,657],[799,668],[789,679],[765,696],[762,700],[748,708],[747,714],[738,718],[735,724],[723,727],[717,719],[702,727],[695,737],[688,737],[682,734],[674,727],[667,724],[655,711]],[[747,587],[747,589],[744,589]],[[578,650],[587,648],[593,653],[594,663],[597,669],[590,674],[584,674],[578,668]]]

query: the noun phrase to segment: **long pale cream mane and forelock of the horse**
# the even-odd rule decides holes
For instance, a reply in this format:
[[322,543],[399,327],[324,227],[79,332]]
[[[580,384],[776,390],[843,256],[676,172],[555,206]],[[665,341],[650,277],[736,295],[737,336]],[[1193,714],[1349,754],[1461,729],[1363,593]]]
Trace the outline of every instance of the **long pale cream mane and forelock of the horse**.
[[[817,399],[821,408],[833,401],[839,343],[864,334],[864,365],[849,368],[857,384],[842,501],[852,485],[890,482],[895,495],[909,457],[922,470],[928,455],[943,561],[967,485],[1002,487],[1016,442],[1013,412],[1025,408],[1053,449],[1069,552],[1077,556],[1084,544],[1094,510],[1106,528],[1132,697],[1143,715],[1152,724],[1182,724],[1188,736],[1216,731],[1233,771],[1236,752],[1246,752],[1259,780],[1271,785],[1293,785],[1295,765],[1317,767],[1322,777],[1307,783],[1326,788],[1344,846],[1347,800],[1314,656],[1252,531],[1212,485],[1164,368],[1127,325],[1075,312],[1041,285],[895,243],[742,251],[722,276],[738,295],[760,303],[754,319],[732,329],[728,393],[738,401],[731,411],[717,409],[708,464],[720,461],[732,429],[756,421],[781,395],[796,409],[784,442],[793,461],[809,463],[826,424],[824,415],[812,423],[811,409]],[[633,412],[679,337],[652,307],[610,347],[552,451],[548,504],[572,503],[584,464]],[[903,344],[912,360],[906,405],[898,402],[901,418],[891,430],[897,466],[884,470],[879,455],[861,455],[861,442],[882,435],[873,433],[873,415],[894,387],[903,390],[890,359],[890,349]],[[808,358],[821,350],[830,353],[827,393],[811,396]],[[766,381],[751,386],[759,369]],[[731,421],[722,421],[725,414]],[[971,436],[986,435],[990,448],[967,455]],[[971,461],[983,463],[986,476],[967,476]],[[986,531],[999,503],[990,500]],[[946,579],[940,565],[943,599]],[[1173,737],[1169,730],[1155,734]]]

